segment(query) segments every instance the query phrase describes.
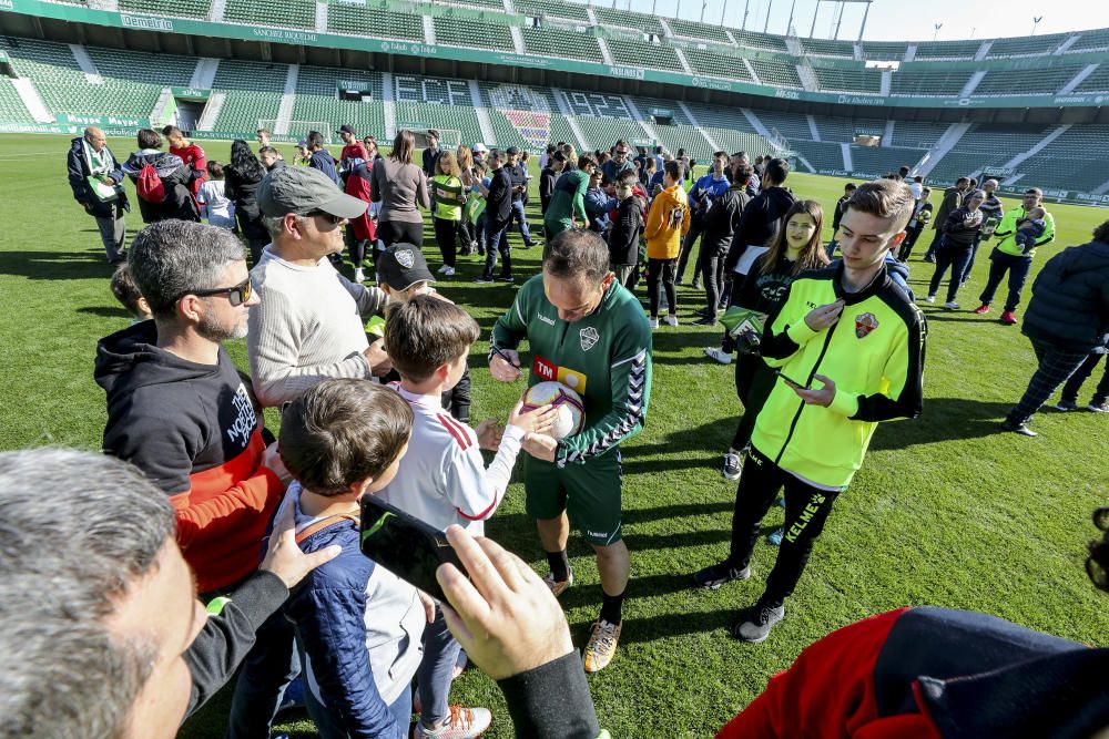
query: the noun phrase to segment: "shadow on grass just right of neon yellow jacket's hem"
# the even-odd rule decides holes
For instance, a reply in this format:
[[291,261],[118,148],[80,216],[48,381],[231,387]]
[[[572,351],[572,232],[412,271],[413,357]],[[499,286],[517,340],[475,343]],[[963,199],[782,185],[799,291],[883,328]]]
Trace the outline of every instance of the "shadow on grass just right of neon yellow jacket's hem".
[[[1016,400],[1014,398],[1014,403]],[[1003,433],[999,424],[1014,403],[926,397],[920,418],[879,423],[871,449],[906,449],[955,439],[993,437]]]

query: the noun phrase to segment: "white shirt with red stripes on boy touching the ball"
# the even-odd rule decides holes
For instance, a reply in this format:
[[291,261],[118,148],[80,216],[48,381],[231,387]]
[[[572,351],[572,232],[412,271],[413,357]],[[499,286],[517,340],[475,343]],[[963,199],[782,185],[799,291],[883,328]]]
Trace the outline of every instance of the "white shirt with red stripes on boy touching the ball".
[[416,421],[397,476],[377,495],[440,531],[456,523],[474,536],[484,535],[485,520],[508,489],[523,432],[513,425],[505,429],[487,470],[478,434],[451,418],[439,396],[417,396],[393,387],[411,406]]

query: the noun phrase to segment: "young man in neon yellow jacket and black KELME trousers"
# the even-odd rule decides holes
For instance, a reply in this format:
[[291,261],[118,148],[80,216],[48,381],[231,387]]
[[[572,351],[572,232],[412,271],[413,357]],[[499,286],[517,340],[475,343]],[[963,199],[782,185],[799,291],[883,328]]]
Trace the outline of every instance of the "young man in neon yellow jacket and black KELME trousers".
[[735,624],[737,638],[762,642],[785,616],[785,598],[878,422],[920,414],[925,322],[884,261],[904,240],[913,206],[904,183],[859,186],[840,222],[843,263],[797,277],[766,319],[760,349],[779,380],[755,420],[731,552],[693,575],[711,589],[750,577],[762,519],[785,489],[777,561],[762,597]]

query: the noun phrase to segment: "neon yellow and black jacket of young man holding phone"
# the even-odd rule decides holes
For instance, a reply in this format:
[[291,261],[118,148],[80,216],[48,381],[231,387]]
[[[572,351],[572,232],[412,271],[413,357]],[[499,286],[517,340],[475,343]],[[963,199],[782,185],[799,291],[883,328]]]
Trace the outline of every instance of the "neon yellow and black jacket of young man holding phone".
[[[779,378],[755,421],[751,443],[801,480],[843,490],[871,443],[878,421],[916,418],[923,406],[924,339],[919,309],[885,274],[862,292],[844,292],[843,264],[804,273],[777,314],[766,319],[761,350],[791,380],[836,384],[827,408],[808,406]],[[813,308],[845,300],[840,320],[813,331]]]

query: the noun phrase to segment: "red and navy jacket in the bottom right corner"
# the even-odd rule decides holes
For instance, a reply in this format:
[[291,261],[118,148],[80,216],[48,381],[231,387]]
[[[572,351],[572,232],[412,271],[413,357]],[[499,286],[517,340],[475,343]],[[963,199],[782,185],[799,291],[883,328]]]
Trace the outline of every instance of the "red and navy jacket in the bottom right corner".
[[833,632],[718,739],[1089,737],[1109,726],[1109,649],[924,606]]

